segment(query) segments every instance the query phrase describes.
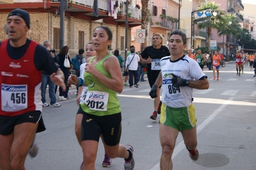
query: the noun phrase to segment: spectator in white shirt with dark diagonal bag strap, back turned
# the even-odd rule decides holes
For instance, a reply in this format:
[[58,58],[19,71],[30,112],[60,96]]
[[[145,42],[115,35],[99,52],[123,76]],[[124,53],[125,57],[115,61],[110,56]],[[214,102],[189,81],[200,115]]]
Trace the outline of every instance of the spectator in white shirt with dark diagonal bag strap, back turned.
[[138,88],[139,81],[139,73],[138,73],[138,62],[140,61],[140,57],[135,54],[135,48],[130,49],[131,54],[127,57],[125,62],[125,68],[129,72],[129,86],[132,88],[133,86],[133,76],[134,76],[134,87]]

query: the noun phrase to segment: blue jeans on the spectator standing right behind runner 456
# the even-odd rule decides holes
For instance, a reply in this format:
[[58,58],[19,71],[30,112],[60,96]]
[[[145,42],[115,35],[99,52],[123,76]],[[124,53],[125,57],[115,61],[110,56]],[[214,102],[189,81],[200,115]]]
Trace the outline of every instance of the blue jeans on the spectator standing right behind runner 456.
[[49,97],[51,100],[51,105],[56,103],[55,97],[55,84],[51,81],[50,75],[42,74],[42,84],[41,84],[41,97],[42,102],[46,102],[46,88],[47,84],[49,84]]

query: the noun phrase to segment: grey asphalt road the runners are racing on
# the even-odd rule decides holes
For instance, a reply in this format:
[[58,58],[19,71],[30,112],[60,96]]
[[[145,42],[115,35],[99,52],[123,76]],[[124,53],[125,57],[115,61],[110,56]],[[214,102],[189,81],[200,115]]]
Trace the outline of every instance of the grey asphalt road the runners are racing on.
[[[194,89],[193,93],[200,158],[196,162],[189,158],[179,134],[173,153],[173,169],[256,169],[256,81],[249,66],[245,66],[240,77],[235,72],[235,64],[227,63],[221,68],[219,81],[213,81],[212,71],[205,68],[210,88]],[[121,144],[133,146],[134,170],[159,170],[158,121],[149,119],[153,100],[148,95],[148,81],[140,84],[139,88],[124,87],[118,95],[123,118]],[[83,155],[74,134],[78,110],[75,91],[71,89],[70,100],[59,102],[61,107],[44,108],[47,129],[37,134],[40,150],[37,157],[26,158],[26,169],[79,169]],[[113,159],[112,167],[101,167],[103,158],[104,148],[100,141],[96,169],[124,169],[122,158]]]

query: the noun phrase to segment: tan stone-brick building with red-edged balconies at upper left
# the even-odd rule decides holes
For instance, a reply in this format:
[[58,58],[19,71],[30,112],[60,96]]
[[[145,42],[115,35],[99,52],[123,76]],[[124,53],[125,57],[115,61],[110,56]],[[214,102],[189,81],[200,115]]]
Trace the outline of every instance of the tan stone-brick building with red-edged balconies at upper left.
[[[108,26],[113,33],[113,42],[110,52],[115,49],[124,53],[124,41],[130,45],[131,28],[141,25],[141,10],[132,4],[128,6],[128,36],[125,37],[126,4],[117,1],[118,6],[110,12],[110,1],[98,0],[97,10],[94,3],[97,0],[67,1],[65,10],[64,27],[60,27],[60,2],[56,0],[13,0],[13,4],[0,5],[0,22],[2,32],[1,40],[7,38],[4,32],[6,18],[10,11],[22,8],[30,13],[31,28],[28,38],[42,44],[50,40],[53,48],[60,49],[60,29],[64,30],[64,45],[69,46],[71,57],[78,53],[78,49],[85,49],[90,42],[92,33],[97,26]],[[97,3],[96,3],[97,4]]]

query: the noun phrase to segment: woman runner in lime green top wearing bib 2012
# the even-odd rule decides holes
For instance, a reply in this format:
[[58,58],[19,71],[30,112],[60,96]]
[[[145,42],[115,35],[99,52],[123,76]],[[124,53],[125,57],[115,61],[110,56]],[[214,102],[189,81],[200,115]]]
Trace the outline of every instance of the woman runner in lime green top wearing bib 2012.
[[116,72],[118,59],[108,53],[112,43],[112,32],[106,26],[94,29],[92,45],[96,56],[87,61],[84,79],[74,75],[69,77],[70,84],[88,86],[85,102],[78,112],[83,114],[81,123],[81,147],[83,150],[82,169],[95,169],[99,136],[102,134],[105,151],[110,158],[124,158],[124,169],[134,167],[133,148],[119,144],[121,137],[121,107],[116,95],[123,91],[123,77]]

